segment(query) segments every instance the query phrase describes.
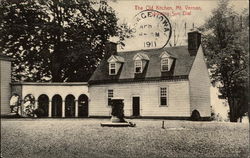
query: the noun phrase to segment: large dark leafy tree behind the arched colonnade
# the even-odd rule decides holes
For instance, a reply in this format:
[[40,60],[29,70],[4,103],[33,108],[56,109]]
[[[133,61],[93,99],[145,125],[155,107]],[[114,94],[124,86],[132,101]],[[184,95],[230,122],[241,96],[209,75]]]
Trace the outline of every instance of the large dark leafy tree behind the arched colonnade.
[[119,30],[106,1],[0,3],[0,51],[15,59],[14,81],[87,81]]

